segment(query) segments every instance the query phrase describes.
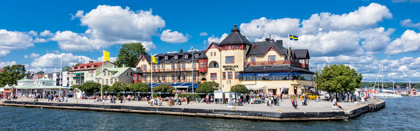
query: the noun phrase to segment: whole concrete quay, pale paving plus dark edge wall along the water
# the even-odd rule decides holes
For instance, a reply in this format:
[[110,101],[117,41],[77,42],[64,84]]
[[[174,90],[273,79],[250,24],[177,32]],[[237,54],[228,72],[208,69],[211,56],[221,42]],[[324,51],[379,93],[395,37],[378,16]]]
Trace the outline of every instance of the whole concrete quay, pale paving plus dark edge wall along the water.
[[[89,100],[93,101],[93,100]],[[289,100],[287,100],[289,101]],[[147,102],[133,102],[131,104],[116,103],[116,104],[102,104],[102,103],[75,103],[75,102],[45,102],[40,101],[34,104],[28,100],[6,100],[1,101],[1,105],[23,106],[23,107],[44,107],[56,109],[74,109],[74,110],[97,110],[97,111],[111,111],[111,112],[126,112],[126,113],[147,113],[147,114],[162,114],[162,115],[185,115],[185,116],[205,116],[215,118],[241,118],[261,121],[310,121],[310,120],[342,120],[354,118],[362,113],[370,112],[370,106],[375,106],[378,109],[385,107],[386,102],[379,99],[369,99],[365,105],[360,106],[354,103],[341,103],[341,107],[345,110],[333,110],[331,102],[310,102],[309,105],[314,107],[323,106],[323,108],[310,108],[307,106],[300,106],[298,109],[281,110],[272,109],[267,110],[266,106],[262,104],[247,104],[236,108],[237,110],[229,110],[226,105],[214,105],[205,103],[196,103],[184,106],[168,107],[166,103],[164,106],[155,107],[147,106]],[[139,104],[141,103],[141,104]],[[186,103],[186,102],[183,102]],[[193,103],[193,102],[190,102]],[[325,105],[327,104],[327,105]],[[249,107],[247,107],[249,106]],[[260,106],[260,107],[255,107]],[[282,105],[281,105],[282,106]],[[291,109],[290,105],[283,105],[285,108]],[[220,109],[220,108],[225,109]],[[264,107],[264,108],[261,108]],[[273,106],[275,107],[275,106]],[[244,108],[244,110],[242,110]],[[258,110],[261,109],[261,110]]]

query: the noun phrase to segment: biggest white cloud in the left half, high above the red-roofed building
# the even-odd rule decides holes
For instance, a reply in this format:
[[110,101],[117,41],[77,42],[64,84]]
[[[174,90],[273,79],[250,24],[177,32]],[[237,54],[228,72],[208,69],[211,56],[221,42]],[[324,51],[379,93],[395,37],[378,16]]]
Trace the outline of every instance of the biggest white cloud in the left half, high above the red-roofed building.
[[92,51],[131,42],[150,41],[158,36],[158,29],[165,27],[165,21],[152,10],[130,10],[129,7],[99,5],[89,13],[78,10],[84,33],[57,31],[52,40],[57,41],[61,50]]

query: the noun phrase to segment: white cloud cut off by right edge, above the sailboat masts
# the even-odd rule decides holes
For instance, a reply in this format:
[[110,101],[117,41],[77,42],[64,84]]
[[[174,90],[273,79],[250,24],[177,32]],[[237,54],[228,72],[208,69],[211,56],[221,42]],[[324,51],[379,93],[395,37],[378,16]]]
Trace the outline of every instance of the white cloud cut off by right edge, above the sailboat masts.
[[420,51],[420,33],[407,30],[400,38],[395,39],[386,47],[386,54],[394,55],[404,52]]

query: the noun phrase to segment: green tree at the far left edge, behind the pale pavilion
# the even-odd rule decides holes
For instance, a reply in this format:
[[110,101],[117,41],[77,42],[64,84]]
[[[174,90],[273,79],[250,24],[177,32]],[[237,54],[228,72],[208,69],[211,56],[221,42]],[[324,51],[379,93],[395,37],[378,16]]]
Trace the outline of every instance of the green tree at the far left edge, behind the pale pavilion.
[[8,65],[3,67],[3,69],[3,73],[0,73],[0,87],[6,84],[16,84],[16,81],[26,76],[25,65]]

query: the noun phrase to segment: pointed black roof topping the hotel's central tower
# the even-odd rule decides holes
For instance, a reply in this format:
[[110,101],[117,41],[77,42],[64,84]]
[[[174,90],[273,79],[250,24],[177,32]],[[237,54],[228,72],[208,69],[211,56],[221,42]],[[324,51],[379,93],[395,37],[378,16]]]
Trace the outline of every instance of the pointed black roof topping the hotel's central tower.
[[222,40],[218,45],[223,44],[235,44],[235,43],[245,43],[245,44],[251,44],[251,42],[248,41],[247,38],[245,38],[237,28],[236,24],[234,25],[234,28],[231,30],[231,34],[229,34],[225,39]]

